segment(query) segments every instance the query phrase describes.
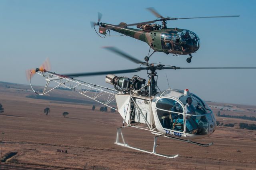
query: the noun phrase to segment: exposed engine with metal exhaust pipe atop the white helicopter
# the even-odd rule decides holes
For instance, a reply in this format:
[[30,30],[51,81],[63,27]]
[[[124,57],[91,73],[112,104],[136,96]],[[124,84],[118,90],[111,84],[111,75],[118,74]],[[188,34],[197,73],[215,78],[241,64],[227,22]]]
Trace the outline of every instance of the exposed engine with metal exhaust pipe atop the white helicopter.
[[134,75],[130,79],[128,77],[118,77],[114,74],[108,74],[106,75],[105,81],[106,83],[114,85],[114,88],[118,91],[140,90],[140,93],[144,95],[147,93],[147,89],[142,88],[146,83],[146,79],[142,79],[137,75]]

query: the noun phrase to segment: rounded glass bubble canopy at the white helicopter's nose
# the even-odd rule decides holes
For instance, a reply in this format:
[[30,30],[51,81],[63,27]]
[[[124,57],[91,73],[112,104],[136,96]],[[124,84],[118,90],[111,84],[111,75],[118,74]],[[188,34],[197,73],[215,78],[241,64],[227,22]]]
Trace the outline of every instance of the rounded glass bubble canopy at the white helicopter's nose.
[[212,110],[189,91],[168,89],[158,93],[152,102],[158,125],[164,130],[210,135],[216,128]]

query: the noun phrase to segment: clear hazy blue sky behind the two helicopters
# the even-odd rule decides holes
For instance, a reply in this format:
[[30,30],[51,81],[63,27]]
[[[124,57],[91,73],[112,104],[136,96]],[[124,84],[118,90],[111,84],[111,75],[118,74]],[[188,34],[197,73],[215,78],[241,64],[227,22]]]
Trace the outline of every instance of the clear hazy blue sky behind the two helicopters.
[[[146,43],[130,37],[100,38],[90,22],[97,21],[97,12],[103,14],[102,22],[109,24],[155,20],[146,10],[148,7],[154,7],[162,16],[175,18],[240,15],[168,21],[168,28],[195,32],[200,38],[200,49],[193,54],[191,63],[186,62],[186,55],[174,57],[160,52],[150,57],[150,62],[177,67],[256,66],[254,0],[0,0],[0,81],[29,84],[26,69],[39,67],[47,57],[51,71],[56,73],[139,67],[102,47],[114,46],[144,61],[149,50]],[[171,88],[189,89],[203,100],[256,105],[255,74],[256,69],[162,70],[158,71],[158,87],[162,91],[168,88],[167,75]],[[136,75],[147,78],[146,71]],[[105,75],[80,79],[109,87]]]

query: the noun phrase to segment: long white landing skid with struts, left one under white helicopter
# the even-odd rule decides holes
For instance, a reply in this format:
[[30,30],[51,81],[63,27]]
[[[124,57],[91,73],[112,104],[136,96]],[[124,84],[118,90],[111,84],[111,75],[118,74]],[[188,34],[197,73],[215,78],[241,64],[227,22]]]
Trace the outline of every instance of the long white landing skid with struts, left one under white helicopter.
[[[119,142],[119,138],[122,138],[122,142]],[[160,136],[163,136],[163,135],[160,135]],[[160,137],[160,136],[155,136],[154,137],[154,146],[153,146],[153,151],[150,152],[150,151],[147,151],[147,150],[142,150],[142,149],[139,149],[139,148],[134,148],[132,146],[129,146],[125,140],[124,140],[124,136],[122,134],[122,127],[121,128],[118,128],[117,129],[117,134],[116,134],[116,142],[115,144],[119,145],[119,146],[124,146],[126,148],[130,148],[130,149],[134,149],[134,150],[138,150],[138,151],[141,151],[141,152],[145,152],[145,153],[148,153],[148,154],[153,154],[153,155],[156,155],[156,156],[162,156],[162,157],[165,157],[165,158],[177,158],[179,155],[164,155],[164,154],[157,154],[156,153],[156,146],[158,146],[158,144],[156,144],[157,142],[157,138]]]

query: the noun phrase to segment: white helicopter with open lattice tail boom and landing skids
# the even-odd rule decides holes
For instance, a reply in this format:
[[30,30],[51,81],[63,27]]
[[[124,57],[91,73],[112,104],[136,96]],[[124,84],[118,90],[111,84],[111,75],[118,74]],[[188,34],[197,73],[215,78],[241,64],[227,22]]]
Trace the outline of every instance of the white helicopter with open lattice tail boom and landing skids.
[[[48,71],[48,64],[43,64],[40,68],[28,71],[28,78],[32,90],[38,95],[45,95],[64,86],[68,89],[77,91],[81,95],[94,101],[117,110],[122,116],[122,127],[117,128],[115,144],[139,150],[157,156],[166,158],[176,158],[176,155],[164,155],[156,153],[157,138],[164,136],[166,138],[180,140],[199,146],[211,146],[210,144],[201,144],[193,142],[192,139],[204,138],[212,134],[216,129],[216,119],[208,105],[188,89],[167,89],[158,92],[157,87],[157,70],[162,69],[256,69],[256,67],[175,67],[162,64],[153,64],[139,61],[138,59],[116,49],[115,47],[106,47],[106,49],[118,53],[122,57],[129,59],[144,67],[136,69],[126,69],[117,71],[101,71],[91,73],[73,73],[57,74]],[[47,63],[47,62],[46,62]],[[148,81],[134,75],[132,78],[118,77],[114,74],[132,73],[147,70]],[[32,87],[31,78],[37,73],[46,80],[46,85],[42,93],[36,92]],[[100,85],[87,83],[75,79],[79,76],[106,75],[106,83],[114,86],[114,89]],[[56,86],[49,87],[50,82],[56,83]],[[113,105],[116,101],[117,108]],[[136,123],[136,124],[135,124]],[[138,125],[144,124],[145,126]],[[125,125],[126,124],[126,125]],[[154,134],[153,151],[142,150],[129,146],[122,134],[122,128],[134,127],[150,131]]]

